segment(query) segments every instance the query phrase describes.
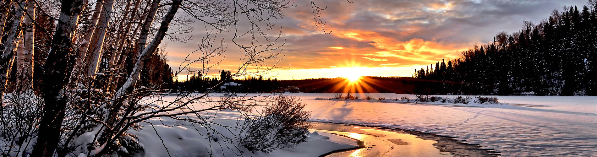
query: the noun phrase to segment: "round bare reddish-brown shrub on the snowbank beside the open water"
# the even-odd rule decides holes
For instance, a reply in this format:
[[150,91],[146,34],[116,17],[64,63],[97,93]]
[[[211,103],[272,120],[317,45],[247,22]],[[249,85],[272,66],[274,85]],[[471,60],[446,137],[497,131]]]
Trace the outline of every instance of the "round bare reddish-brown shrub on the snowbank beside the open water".
[[306,141],[312,125],[307,122],[311,113],[304,106],[295,97],[273,98],[260,116],[247,118],[241,126],[239,144],[252,152],[272,152]]

